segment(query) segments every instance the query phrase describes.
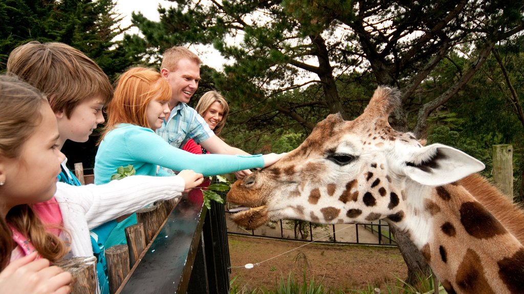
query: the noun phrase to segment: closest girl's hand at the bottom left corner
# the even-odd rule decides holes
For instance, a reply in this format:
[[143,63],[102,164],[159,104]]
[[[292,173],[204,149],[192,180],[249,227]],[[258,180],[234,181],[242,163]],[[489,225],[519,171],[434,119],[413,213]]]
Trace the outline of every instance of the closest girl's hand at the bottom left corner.
[[0,273],[0,293],[69,293],[72,277],[47,259],[37,259],[36,252],[7,265]]

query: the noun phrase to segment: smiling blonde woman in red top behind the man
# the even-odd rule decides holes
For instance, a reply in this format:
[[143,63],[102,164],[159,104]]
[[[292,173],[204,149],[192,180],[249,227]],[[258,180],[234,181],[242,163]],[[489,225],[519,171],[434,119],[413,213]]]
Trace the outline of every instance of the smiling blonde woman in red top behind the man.
[[[208,123],[209,128],[216,134],[220,135],[226,124],[227,115],[229,114],[229,105],[226,99],[219,92],[208,91],[200,97],[195,107],[196,112]],[[206,151],[200,144],[190,139],[182,147],[182,150],[195,153],[206,154]]]

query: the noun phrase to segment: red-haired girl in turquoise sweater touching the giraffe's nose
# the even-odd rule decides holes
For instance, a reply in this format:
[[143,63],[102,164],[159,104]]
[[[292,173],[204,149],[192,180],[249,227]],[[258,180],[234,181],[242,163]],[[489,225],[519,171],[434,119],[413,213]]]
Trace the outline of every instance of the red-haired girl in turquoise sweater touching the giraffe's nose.
[[[167,174],[158,173],[162,166],[173,171],[192,169],[212,176],[265,167],[282,157],[275,153],[203,156],[171,146],[155,133],[169,114],[170,99],[171,87],[157,70],[134,67],[118,78],[95,157],[95,184],[110,182],[117,168],[127,165],[133,165],[137,175],[165,176]],[[136,216],[119,223],[105,247],[125,244],[124,228],[134,223]]]

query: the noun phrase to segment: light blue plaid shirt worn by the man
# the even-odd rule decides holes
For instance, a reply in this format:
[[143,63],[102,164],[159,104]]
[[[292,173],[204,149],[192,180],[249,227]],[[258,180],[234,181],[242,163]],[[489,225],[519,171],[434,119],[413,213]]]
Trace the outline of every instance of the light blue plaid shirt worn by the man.
[[173,107],[169,119],[164,120],[156,133],[176,148],[183,146],[189,139],[202,143],[215,135],[196,110],[181,102]]

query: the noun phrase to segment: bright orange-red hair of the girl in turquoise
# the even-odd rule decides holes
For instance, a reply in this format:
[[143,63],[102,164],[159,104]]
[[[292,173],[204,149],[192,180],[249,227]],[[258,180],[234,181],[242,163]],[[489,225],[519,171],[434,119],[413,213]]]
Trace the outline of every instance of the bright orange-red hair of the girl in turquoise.
[[124,72],[116,82],[115,94],[107,105],[107,123],[100,140],[118,123],[151,128],[146,117],[149,101],[167,102],[171,87],[160,72],[146,67],[133,67]]

